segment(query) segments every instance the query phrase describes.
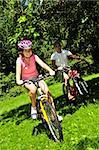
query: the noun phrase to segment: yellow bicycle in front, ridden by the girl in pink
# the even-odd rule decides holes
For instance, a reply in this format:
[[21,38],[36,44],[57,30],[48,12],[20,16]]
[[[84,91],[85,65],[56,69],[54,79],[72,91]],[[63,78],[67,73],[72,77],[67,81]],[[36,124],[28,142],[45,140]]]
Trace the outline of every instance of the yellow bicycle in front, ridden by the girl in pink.
[[41,88],[39,87],[39,81],[49,77],[49,74],[45,74],[45,75],[40,75],[37,79],[35,80],[26,80],[24,81],[25,83],[33,83],[35,84],[35,86],[37,87],[37,91],[38,91],[38,104],[37,104],[37,114],[40,117],[40,119],[42,120],[43,124],[47,124],[48,128],[50,130],[50,133],[53,137],[53,139],[57,142],[57,141],[62,141],[63,140],[63,133],[62,133],[62,127],[61,124],[58,120],[57,117],[57,113],[56,110],[54,108],[54,106],[52,105],[52,97],[51,95],[48,93],[48,95],[45,95]]

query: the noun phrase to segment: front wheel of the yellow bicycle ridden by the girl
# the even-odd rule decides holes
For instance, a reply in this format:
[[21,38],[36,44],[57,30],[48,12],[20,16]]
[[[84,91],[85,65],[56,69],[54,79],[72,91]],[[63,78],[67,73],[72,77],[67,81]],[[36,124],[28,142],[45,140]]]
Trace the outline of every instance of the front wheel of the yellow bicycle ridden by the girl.
[[42,106],[44,107],[43,116],[49,127],[53,139],[57,141],[63,140],[62,127],[58,121],[57,114],[53,106],[47,101],[43,100]]

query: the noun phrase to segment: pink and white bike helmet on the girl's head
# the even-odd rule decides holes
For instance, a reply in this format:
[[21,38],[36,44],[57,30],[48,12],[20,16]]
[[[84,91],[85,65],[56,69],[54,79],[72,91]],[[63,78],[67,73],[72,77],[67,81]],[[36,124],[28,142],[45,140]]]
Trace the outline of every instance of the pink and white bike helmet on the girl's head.
[[18,44],[18,47],[21,49],[29,49],[32,47],[32,42],[30,40],[22,40]]

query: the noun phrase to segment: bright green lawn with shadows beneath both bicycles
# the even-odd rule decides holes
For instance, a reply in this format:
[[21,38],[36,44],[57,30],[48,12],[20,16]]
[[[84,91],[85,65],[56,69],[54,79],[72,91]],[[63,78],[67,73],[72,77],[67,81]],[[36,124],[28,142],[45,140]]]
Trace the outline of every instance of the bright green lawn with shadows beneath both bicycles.
[[27,94],[0,101],[0,150],[98,150],[99,87],[96,83],[99,83],[99,78],[96,80],[94,75],[89,83],[97,101],[81,107],[62,105],[64,100],[61,97],[61,84],[50,86],[55,100],[59,99],[60,107],[57,109],[63,115],[62,143],[54,142],[47,135],[41,121],[31,119]]

